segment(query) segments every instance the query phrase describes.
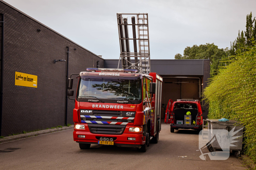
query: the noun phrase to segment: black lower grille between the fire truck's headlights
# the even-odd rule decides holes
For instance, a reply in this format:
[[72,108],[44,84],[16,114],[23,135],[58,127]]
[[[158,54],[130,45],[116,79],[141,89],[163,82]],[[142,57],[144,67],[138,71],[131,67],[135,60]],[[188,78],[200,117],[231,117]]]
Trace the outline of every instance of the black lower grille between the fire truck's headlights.
[[125,125],[111,124],[88,124],[90,132],[94,134],[121,135],[124,133]]

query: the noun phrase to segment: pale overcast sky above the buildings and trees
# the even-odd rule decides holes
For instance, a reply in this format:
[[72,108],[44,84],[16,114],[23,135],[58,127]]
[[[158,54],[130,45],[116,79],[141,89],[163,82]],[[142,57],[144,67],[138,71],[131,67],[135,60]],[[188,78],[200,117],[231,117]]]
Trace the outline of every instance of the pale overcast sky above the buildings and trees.
[[[104,59],[118,59],[116,13],[148,13],[151,59],[194,44],[230,47],[256,0],[5,0]],[[130,35],[131,37],[132,35]]]

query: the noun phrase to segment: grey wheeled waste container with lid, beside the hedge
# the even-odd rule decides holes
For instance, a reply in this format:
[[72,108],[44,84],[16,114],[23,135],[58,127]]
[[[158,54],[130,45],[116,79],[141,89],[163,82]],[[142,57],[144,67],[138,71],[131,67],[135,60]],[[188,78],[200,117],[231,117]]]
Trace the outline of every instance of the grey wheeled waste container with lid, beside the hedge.
[[[218,132],[224,133],[222,135],[222,143],[225,142],[225,145],[220,144],[218,140],[212,140],[210,145],[207,146],[210,152],[215,152],[216,149],[226,149],[232,150],[236,157],[240,157],[242,150],[242,139],[243,139],[243,125],[240,122],[235,120],[229,120],[227,122],[221,122],[218,119],[206,119],[208,122],[208,139],[218,138]],[[225,131],[214,131],[214,130],[227,130]],[[239,137],[241,136],[241,137]],[[233,137],[233,138],[232,138]],[[238,137],[238,138],[234,138]],[[208,142],[210,143],[210,142]],[[220,146],[222,145],[222,146]],[[224,147],[224,148],[223,148]],[[225,148],[226,147],[226,148]]]

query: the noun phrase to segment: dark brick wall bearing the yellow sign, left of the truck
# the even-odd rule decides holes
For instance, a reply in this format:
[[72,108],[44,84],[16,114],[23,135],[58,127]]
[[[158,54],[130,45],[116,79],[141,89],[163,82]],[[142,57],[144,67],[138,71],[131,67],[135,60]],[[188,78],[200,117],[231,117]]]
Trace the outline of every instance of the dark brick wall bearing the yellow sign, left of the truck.
[[[1,135],[64,126],[67,62],[53,60],[67,60],[68,46],[70,75],[96,67],[98,60],[104,67],[103,59],[1,1],[0,13],[5,15]],[[38,87],[15,86],[15,71],[37,75]],[[74,106],[69,100],[68,123]]]

